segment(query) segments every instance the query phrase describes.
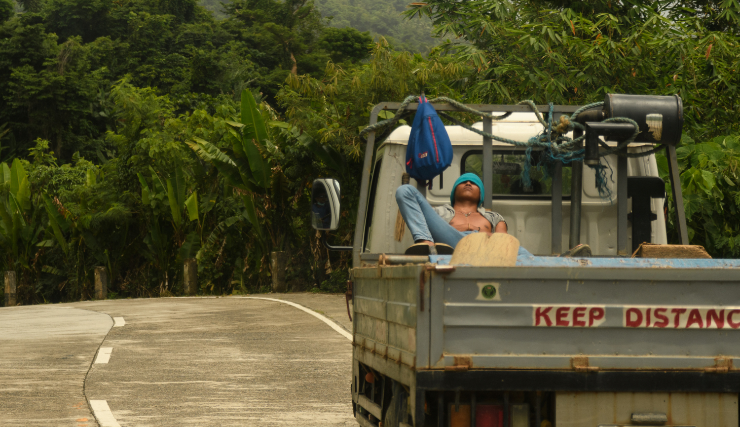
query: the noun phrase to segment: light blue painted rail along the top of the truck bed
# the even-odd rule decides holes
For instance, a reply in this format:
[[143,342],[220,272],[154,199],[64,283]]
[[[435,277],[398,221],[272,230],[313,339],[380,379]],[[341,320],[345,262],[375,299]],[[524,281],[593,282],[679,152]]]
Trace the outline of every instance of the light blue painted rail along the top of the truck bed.
[[[446,266],[452,255],[429,255],[431,263]],[[464,264],[463,264],[464,265]],[[740,269],[740,260],[724,258],[559,258],[532,255],[519,247],[517,266],[521,267],[596,267],[642,269]]]

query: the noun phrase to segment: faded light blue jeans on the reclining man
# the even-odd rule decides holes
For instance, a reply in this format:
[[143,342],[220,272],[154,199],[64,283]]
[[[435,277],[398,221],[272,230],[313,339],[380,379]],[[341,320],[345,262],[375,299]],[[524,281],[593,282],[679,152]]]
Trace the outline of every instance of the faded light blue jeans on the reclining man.
[[434,212],[426,198],[408,184],[398,187],[396,201],[403,221],[406,221],[414,241],[433,241],[445,243],[452,247],[466,235],[477,232],[460,232]]

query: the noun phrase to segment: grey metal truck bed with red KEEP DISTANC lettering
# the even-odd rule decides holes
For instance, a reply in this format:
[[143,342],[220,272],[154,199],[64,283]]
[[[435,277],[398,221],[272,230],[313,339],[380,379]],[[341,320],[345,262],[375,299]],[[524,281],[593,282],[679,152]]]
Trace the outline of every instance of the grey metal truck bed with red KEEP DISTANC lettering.
[[411,406],[455,389],[740,391],[740,269],[596,260],[353,269],[354,358]]

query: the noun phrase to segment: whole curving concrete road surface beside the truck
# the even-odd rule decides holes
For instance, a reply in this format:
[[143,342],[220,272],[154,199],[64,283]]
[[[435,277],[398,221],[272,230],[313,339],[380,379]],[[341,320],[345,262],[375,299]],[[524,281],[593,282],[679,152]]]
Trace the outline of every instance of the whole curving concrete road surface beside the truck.
[[[340,295],[259,296],[350,326]],[[240,297],[64,306],[0,309],[0,426],[92,427],[95,400],[123,427],[357,425],[349,340],[295,307]],[[108,363],[92,363],[98,346],[112,349]]]

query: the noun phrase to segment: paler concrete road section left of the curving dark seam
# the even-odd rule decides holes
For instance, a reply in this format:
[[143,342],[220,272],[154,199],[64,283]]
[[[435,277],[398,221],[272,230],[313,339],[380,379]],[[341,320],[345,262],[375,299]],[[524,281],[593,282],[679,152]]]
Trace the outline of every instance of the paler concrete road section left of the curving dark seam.
[[69,307],[0,309],[0,426],[95,426],[84,380],[112,325]]

